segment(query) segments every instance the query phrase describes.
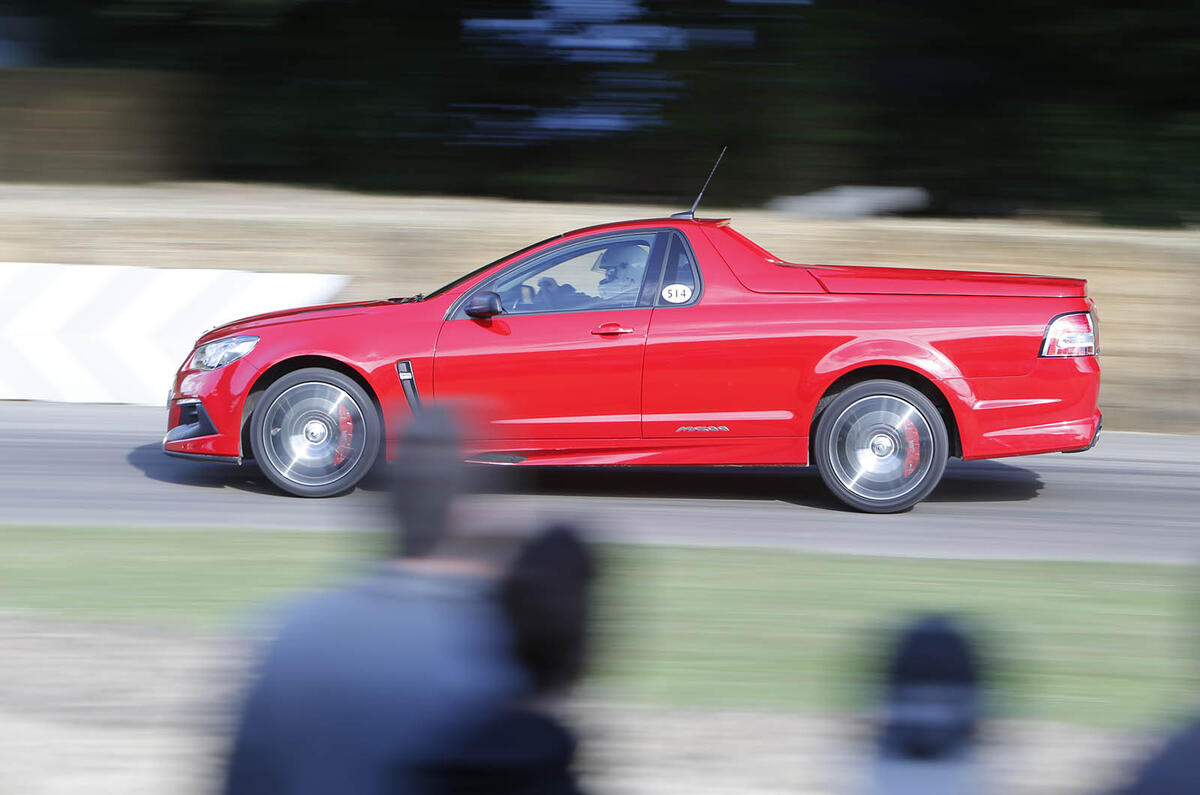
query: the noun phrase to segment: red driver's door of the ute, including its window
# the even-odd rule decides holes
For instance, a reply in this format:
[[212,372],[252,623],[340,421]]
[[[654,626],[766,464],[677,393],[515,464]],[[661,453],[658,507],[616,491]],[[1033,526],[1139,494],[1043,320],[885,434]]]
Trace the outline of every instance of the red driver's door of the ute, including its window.
[[[434,395],[466,401],[482,438],[637,438],[652,311],[642,285],[665,237],[571,241],[472,288],[442,324]],[[498,293],[503,312],[468,317],[479,291]]]

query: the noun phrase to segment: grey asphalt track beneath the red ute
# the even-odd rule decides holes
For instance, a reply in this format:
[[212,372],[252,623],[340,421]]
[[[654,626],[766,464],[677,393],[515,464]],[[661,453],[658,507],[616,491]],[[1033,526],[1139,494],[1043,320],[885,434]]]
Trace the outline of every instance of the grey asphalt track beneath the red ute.
[[[300,500],[253,466],[163,455],[164,411],[0,401],[0,524],[386,527],[385,478]],[[523,471],[472,521],[582,520],[596,538],[865,555],[1200,562],[1200,436],[1105,432],[1087,453],[952,461],[905,514],[844,510],[815,470]]]

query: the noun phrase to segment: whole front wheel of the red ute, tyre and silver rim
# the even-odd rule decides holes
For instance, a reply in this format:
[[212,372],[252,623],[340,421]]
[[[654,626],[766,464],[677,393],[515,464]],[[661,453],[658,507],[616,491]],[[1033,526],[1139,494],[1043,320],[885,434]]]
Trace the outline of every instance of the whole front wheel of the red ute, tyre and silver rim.
[[250,418],[250,446],[271,483],[299,497],[353,489],[379,454],[374,401],[335,370],[289,372],[263,394]]

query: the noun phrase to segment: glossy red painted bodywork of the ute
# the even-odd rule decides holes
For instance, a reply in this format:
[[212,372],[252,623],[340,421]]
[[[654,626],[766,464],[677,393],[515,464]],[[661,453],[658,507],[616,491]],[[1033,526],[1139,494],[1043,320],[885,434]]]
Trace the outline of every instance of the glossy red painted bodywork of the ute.
[[[688,306],[445,319],[474,286],[547,249],[622,229],[674,228],[702,273]],[[360,301],[229,323],[198,343],[254,334],[214,371],[181,369],[217,434],[164,443],[239,459],[251,394],[269,370],[336,363],[373,393],[395,454],[409,414],[396,361],[422,400],[466,400],[470,453],[523,464],[808,464],[814,412],[844,376],[899,367],[953,414],[966,459],[1086,447],[1098,426],[1096,357],[1039,358],[1051,318],[1091,311],[1085,282],[947,270],[797,265],[725,221],[658,219],[568,233],[434,298]],[[594,334],[616,324],[628,334]],[[179,408],[172,405],[169,423]],[[712,428],[695,431],[680,429]],[[497,459],[496,454],[508,454]],[[487,460],[487,459],[485,459]]]

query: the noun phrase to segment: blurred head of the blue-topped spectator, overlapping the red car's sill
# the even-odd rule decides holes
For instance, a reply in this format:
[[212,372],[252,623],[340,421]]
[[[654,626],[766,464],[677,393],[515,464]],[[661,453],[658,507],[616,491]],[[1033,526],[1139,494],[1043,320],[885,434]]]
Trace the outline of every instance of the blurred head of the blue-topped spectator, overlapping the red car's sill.
[[400,450],[391,483],[394,551],[426,557],[449,533],[450,506],[466,488],[458,424],[446,410],[428,406],[404,429]]

